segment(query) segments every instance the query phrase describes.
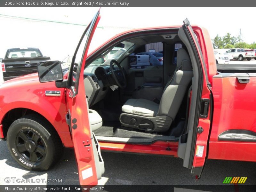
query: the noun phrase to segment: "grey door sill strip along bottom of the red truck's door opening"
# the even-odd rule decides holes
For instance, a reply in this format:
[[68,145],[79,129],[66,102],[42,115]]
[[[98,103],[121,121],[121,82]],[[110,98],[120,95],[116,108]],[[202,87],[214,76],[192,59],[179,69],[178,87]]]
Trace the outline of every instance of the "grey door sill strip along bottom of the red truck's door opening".
[[107,142],[117,142],[117,143],[140,144],[140,145],[150,145],[155,143],[156,141],[164,141],[164,142],[179,141],[179,138],[175,136],[156,136],[154,138],[122,138],[122,137],[104,137],[104,136],[95,136],[95,137],[99,142],[107,141]]

